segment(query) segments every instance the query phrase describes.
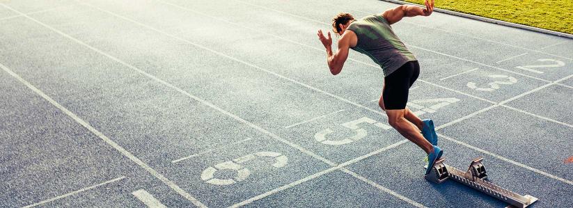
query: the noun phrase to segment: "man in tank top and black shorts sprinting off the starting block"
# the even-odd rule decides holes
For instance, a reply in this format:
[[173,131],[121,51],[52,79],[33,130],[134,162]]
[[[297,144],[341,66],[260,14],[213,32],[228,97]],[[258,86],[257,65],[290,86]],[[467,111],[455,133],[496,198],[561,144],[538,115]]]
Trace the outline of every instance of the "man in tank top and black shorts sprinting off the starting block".
[[324,37],[322,30],[319,30],[317,35],[327,49],[327,61],[333,75],[342,70],[349,49],[366,54],[382,67],[384,89],[378,104],[386,111],[388,123],[426,152],[427,175],[443,151],[437,146],[434,122],[429,119],[421,120],[406,107],[408,90],[420,74],[420,65],[390,26],[402,17],[430,16],[434,10],[434,0],[425,0],[424,3],[425,8],[402,5],[359,20],[355,20],[348,13],[338,14],[332,19],[333,31],[340,35],[336,53],[332,51],[330,32],[328,38]]

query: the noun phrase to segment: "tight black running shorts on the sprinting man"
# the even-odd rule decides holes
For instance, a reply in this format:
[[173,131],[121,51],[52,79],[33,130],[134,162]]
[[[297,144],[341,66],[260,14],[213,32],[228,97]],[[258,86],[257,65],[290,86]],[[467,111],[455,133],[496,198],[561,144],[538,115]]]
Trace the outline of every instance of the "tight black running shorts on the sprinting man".
[[408,90],[420,75],[418,61],[409,61],[384,77],[382,99],[386,110],[406,109]]

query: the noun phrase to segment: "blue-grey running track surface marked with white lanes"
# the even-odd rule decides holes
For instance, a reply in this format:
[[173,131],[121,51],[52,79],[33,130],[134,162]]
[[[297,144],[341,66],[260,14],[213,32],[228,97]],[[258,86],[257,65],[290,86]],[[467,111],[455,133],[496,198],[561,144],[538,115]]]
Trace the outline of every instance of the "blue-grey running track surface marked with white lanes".
[[[386,123],[382,70],[352,52],[332,76],[315,34],[393,3],[0,3],[0,207],[145,207],[142,189],[166,207],[505,206],[427,182],[393,129],[315,138]],[[573,40],[439,13],[393,28],[421,63],[409,106],[434,119],[450,166],[482,156],[533,207],[573,207]],[[201,177],[249,155],[214,173],[232,184]]]

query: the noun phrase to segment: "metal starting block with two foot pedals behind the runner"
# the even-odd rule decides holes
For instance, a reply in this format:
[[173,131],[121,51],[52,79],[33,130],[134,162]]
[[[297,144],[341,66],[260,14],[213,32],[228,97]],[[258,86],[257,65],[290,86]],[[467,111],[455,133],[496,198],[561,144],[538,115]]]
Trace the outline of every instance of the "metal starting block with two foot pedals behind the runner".
[[448,166],[444,163],[445,159],[439,159],[434,163],[434,167],[430,170],[430,173],[425,175],[425,179],[440,184],[446,179],[453,179],[455,182],[459,182],[466,186],[470,186],[472,189],[476,189],[487,195],[491,195],[494,198],[502,200],[510,204],[509,207],[527,207],[538,199],[531,195],[519,195],[508,189],[503,189],[501,186],[493,184],[487,181],[487,173],[485,172],[485,166],[482,164],[482,157],[478,157],[471,161],[471,164],[466,172],[458,170],[452,166]]

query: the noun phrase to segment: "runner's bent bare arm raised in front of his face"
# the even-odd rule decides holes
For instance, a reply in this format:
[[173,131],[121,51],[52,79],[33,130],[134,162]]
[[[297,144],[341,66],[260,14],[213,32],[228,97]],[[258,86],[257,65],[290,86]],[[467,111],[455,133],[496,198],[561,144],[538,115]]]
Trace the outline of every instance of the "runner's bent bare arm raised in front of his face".
[[328,33],[328,38],[324,37],[322,30],[319,30],[317,35],[320,42],[322,42],[322,45],[324,45],[324,48],[327,49],[327,62],[330,72],[333,75],[340,73],[340,71],[343,70],[346,58],[348,58],[350,47],[356,46],[356,42],[358,41],[356,33],[346,30],[342,37],[340,37],[340,40],[338,40],[338,50],[336,53],[332,51],[332,38],[330,36],[330,32]]

